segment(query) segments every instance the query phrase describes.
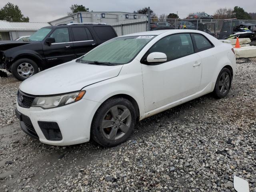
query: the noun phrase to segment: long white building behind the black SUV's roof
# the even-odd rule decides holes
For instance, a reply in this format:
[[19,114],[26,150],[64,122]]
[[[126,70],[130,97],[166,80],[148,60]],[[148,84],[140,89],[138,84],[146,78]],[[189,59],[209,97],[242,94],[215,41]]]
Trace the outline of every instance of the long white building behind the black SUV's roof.
[[144,14],[129,12],[78,12],[53,21],[48,22],[52,26],[68,23],[106,23],[112,24],[128,20],[138,20],[146,18]]

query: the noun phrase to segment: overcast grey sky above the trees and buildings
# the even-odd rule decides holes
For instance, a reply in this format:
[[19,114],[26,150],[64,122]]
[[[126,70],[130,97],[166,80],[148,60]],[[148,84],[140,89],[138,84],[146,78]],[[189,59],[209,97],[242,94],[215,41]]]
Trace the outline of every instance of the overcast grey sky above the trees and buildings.
[[83,4],[89,11],[102,12],[133,12],[150,6],[158,15],[178,11],[180,18],[199,11],[214,14],[218,8],[234,6],[240,6],[246,12],[256,12],[256,0],[0,0],[0,8],[8,2],[17,4],[30,22],[49,22],[66,16],[71,4]]

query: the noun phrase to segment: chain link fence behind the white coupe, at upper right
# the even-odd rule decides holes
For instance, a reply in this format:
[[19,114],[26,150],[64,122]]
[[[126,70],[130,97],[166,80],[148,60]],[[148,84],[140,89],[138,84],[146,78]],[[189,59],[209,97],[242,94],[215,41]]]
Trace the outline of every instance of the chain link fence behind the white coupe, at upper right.
[[[150,30],[164,29],[193,29],[204,31],[218,39],[228,38],[236,32],[242,32],[241,28],[248,28],[256,32],[256,20],[207,20],[207,19],[166,19],[151,18]],[[253,36],[253,35],[252,35]],[[256,34],[254,34],[256,38]]]

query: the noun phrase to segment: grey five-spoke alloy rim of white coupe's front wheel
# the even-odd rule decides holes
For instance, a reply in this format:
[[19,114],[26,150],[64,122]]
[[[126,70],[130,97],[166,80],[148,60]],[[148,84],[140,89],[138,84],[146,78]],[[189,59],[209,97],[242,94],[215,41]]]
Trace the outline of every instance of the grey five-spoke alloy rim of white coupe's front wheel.
[[102,119],[102,133],[109,140],[118,140],[128,132],[131,122],[131,112],[126,106],[113,106]]

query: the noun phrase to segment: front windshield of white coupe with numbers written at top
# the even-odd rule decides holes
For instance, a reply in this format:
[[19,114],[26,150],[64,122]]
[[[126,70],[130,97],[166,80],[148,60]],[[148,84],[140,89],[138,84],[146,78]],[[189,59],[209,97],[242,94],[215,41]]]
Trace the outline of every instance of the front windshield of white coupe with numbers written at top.
[[150,42],[155,36],[128,36],[109,40],[96,47],[77,62],[94,64],[126,64]]

